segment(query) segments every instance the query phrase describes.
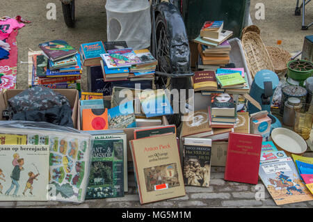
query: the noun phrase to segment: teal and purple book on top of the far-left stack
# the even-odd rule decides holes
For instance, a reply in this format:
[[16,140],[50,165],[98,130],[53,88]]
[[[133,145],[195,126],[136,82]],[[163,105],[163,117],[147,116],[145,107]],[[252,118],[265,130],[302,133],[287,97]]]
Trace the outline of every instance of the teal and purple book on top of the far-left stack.
[[51,61],[58,61],[77,54],[77,50],[64,40],[52,40],[40,44],[39,47]]

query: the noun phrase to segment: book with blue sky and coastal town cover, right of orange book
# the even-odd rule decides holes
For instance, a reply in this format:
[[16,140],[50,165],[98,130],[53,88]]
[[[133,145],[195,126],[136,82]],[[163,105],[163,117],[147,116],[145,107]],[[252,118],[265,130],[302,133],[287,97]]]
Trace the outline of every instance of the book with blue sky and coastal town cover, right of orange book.
[[109,109],[109,129],[136,127],[133,101]]

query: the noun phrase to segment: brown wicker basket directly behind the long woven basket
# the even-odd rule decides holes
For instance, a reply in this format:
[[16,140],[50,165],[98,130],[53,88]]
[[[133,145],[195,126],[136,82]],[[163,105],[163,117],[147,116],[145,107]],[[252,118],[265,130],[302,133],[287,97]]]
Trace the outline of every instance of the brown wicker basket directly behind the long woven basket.
[[271,57],[275,72],[281,73],[287,71],[287,63],[291,60],[291,54],[278,47],[266,47],[268,55]]

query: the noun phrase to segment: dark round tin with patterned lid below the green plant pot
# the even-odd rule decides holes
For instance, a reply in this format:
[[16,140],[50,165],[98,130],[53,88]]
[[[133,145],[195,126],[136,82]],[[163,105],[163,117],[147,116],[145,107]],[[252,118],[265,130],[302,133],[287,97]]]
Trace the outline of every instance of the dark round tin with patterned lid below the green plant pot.
[[280,106],[280,114],[284,113],[284,103],[289,97],[296,97],[301,103],[307,100],[307,90],[301,86],[284,86],[282,88],[282,102]]

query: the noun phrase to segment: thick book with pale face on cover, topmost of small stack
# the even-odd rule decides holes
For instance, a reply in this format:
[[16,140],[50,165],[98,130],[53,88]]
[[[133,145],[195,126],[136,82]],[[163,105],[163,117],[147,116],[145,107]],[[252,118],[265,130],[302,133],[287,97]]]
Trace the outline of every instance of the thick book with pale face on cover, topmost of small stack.
[[234,116],[234,97],[228,93],[211,94],[211,116]]

